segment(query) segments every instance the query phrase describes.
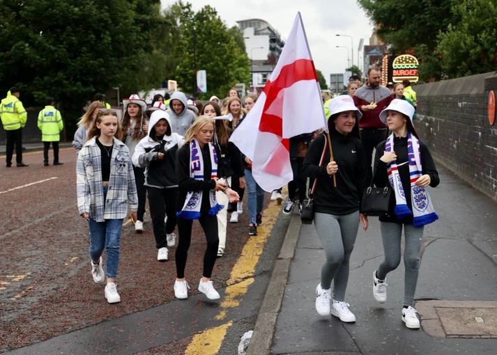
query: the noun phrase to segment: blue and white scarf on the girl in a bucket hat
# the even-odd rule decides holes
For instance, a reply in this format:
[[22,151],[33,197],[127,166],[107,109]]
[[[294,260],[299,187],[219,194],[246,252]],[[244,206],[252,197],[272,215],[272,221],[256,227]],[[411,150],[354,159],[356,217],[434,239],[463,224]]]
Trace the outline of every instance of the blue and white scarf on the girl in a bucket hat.
[[[394,134],[390,134],[385,143],[385,152],[392,152],[394,144]],[[392,161],[388,164],[388,180],[395,191],[395,216],[398,219],[404,219],[406,216],[413,216],[413,226],[425,226],[438,219],[435,213],[431,198],[428,191],[424,187],[419,187],[415,184],[416,180],[422,175],[420,142],[418,139],[407,132],[407,152],[409,175],[411,176],[411,203],[413,212],[409,210],[406,203],[406,193],[402,187],[400,180],[397,161]]]

